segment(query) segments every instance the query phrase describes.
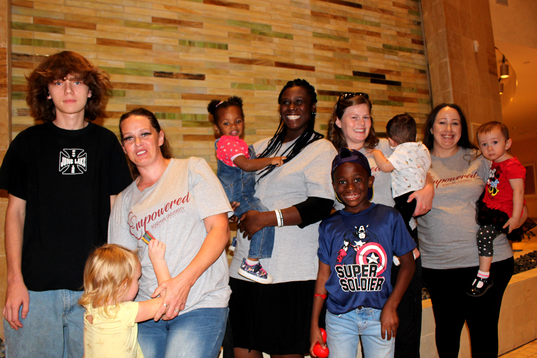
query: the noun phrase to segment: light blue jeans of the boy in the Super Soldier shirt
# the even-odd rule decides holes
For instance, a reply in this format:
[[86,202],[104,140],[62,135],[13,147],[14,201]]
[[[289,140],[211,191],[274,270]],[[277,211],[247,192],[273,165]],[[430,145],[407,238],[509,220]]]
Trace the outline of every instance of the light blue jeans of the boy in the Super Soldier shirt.
[[326,345],[329,358],[356,358],[358,341],[362,338],[365,358],[393,357],[395,338],[382,339],[380,312],[374,308],[353,310],[343,315],[326,311]]

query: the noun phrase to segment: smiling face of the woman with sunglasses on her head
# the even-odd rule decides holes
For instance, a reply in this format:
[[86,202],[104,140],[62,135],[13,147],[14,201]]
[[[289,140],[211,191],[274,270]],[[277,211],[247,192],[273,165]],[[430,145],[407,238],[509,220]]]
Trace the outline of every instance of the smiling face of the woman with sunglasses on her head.
[[371,111],[365,103],[348,107],[342,118],[336,119],[336,126],[341,128],[347,145],[352,149],[364,147],[371,123]]

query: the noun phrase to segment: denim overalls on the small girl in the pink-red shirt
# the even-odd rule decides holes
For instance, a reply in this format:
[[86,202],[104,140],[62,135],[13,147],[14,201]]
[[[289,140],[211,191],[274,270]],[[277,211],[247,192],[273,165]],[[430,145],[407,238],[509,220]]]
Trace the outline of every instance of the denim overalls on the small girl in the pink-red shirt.
[[[219,139],[214,142],[214,149],[217,149]],[[255,158],[256,152],[253,147],[249,147],[250,158]],[[235,215],[239,218],[248,210],[269,211],[261,200],[256,198],[256,172],[245,172],[238,166],[229,166],[218,160],[216,176],[220,179],[224,191],[229,201],[240,202],[241,205],[235,210]],[[250,251],[248,257],[252,259],[267,259],[272,255],[274,247],[274,227],[266,227],[252,235],[250,240]]]

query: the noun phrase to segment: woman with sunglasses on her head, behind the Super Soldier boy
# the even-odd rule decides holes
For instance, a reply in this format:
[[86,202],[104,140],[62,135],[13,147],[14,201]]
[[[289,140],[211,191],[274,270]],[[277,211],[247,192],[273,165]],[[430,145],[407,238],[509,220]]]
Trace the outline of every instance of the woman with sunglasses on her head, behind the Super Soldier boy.
[[[378,138],[373,126],[371,115],[372,104],[369,95],[362,92],[343,92],[332,111],[328,124],[328,138],[336,148],[347,147],[364,154],[375,177],[372,201],[393,207],[395,205],[391,193],[391,174],[380,170],[371,149],[378,149],[384,157],[389,157],[393,150],[387,138]],[[409,201],[416,200],[413,216],[423,215],[431,209],[434,197],[432,178],[427,175],[423,189],[409,196]],[[336,209],[342,205],[336,203]],[[392,266],[391,277],[397,277],[398,266]],[[397,309],[399,327],[395,338],[395,357],[419,357],[419,342],[422,325],[422,281],[421,261],[416,260],[416,272],[410,286],[401,299]]]

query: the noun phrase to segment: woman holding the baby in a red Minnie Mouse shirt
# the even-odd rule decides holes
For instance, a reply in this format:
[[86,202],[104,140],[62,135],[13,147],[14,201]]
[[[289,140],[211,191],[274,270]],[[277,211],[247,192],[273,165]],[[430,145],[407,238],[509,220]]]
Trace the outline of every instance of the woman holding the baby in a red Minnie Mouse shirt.
[[[466,294],[479,265],[476,201],[489,178],[491,162],[470,142],[466,116],[455,104],[433,109],[425,126],[424,142],[431,152],[429,173],[436,193],[431,211],[418,218],[418,238],[423,279],[436,321],[438,355],[458,356],[466,320],[472,356],[497,357],[500,306],[513,274],[513,251],[505,234],[494,240],[490,267],[494,284],[483,296]],[[527,217],[526,207],[523,217]]]

